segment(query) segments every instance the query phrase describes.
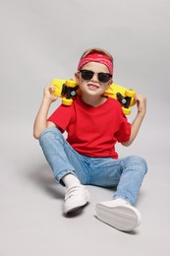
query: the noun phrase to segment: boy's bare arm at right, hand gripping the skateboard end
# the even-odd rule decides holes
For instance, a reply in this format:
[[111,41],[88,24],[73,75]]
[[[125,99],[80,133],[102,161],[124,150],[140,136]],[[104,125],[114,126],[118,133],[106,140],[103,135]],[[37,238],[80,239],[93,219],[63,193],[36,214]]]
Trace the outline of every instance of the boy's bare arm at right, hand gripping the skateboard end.
[[138,106],[138,113],[136,118],[134,119],[133,123],[132,123],[132,130],[131,130],[131,136],[130,136],[130,140],[128,142],[122,143],[123,146],[130,146],[134,140],[136,139],[140,127],[142,125],[142,120],[143,117],[145,115],[146,112],[146,98],[145,96],[142,95],[137,95],[136,96],[136,102],[137,102],[137,106]]

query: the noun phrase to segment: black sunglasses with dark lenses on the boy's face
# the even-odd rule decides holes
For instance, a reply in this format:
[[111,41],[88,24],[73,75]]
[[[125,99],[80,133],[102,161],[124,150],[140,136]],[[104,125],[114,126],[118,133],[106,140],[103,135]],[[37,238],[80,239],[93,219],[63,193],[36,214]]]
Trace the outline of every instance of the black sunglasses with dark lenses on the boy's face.
[[112,75],[110,75],[109,73],[103,73],[103,72],[94,73],[93,71],[86,70],[86,69],[82,69],[80,70],[80,72],[82,74],[82,78],[85,80],[91,80],[94,74],[97,75],[98,81],[101,83],[107,83],[112,78]]

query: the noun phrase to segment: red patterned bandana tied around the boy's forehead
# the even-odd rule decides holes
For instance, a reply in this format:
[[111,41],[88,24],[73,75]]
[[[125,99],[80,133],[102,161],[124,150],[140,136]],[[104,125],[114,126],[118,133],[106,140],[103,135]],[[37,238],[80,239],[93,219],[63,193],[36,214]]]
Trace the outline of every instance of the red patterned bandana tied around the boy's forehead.
[[86,63],[92,61],[104,64],[109,69],[110,75],[113,75],[112,61],[108,56],[100,53],[91,53],[83,57],[78,65],[78,70],[81,70]]

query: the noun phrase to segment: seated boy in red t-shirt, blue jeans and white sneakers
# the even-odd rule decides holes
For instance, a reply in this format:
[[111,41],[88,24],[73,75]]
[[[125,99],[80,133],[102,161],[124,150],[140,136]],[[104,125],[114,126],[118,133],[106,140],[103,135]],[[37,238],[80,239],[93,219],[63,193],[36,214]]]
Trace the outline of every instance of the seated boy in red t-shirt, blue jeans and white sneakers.
[[[130,146],[135,140],[146,110],[146,99],[137,95],[138,113],[130,124],[114,98],[103,96],[113,83],[113,58],[100,48],[85,51],[76,81],[82,91],[71,106],[60,105],[47,118],[51,102],[57,99],[52,86],[44,89],[43,100],[34,122],[33,135],[55,178],[66,186],[64,213],[69,214],[89,202],[85,184],[114,187],[113,200],[96,205],[98,220],[130,231],[141,224],[134,207],[147,171],[139,157],[118,159],[115,144]],[[67,141],[62,133],[68,132]]]

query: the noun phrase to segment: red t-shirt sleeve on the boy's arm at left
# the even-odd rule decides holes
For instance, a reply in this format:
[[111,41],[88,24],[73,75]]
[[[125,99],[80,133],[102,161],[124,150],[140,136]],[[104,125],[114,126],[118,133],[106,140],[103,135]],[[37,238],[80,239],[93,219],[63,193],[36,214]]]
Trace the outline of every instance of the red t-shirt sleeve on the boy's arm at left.
[[72,105],[66,106],[61,104],[49,117],[48,121],[53,122],[61,132],[65,132],[70,123],[72,116]]

